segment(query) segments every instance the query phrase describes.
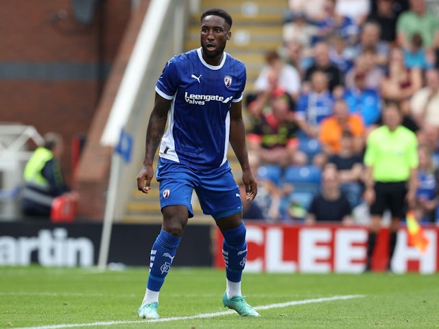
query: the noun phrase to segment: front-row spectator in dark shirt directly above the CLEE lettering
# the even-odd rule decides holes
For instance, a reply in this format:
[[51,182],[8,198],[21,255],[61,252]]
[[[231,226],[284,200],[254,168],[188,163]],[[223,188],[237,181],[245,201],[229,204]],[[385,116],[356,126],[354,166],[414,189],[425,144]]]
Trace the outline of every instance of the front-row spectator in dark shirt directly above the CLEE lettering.
[[340,189],[340,175],[335,167],[326,167],[322,172],[322,188],[313,197],[305,223],[322,222],[353,223],[351,205]]

